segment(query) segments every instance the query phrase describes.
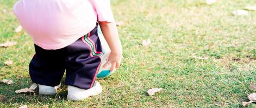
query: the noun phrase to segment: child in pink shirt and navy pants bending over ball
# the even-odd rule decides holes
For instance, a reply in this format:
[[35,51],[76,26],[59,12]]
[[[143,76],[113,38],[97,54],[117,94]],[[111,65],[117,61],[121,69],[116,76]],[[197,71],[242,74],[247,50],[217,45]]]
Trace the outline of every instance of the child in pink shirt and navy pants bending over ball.
[[66,71],[67,99],[83,100],[102,92],[96,82],[103,57],[97,26],[111,49],[110,71],[120,66],[122,46],[110,0],[19,0],[14,13],[32,37],[35,55],[29,75],[40,95],[53,95]]

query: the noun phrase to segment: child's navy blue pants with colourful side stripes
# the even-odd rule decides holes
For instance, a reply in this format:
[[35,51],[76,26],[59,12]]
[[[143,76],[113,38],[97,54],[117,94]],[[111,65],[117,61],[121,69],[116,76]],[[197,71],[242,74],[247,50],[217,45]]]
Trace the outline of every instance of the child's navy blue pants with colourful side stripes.
[[102,56],[96,25],[88,34],[62,49],[45,50],[35,45],[29,75],[36,84],[57,86],[66,71],[66,85],[90,89],[96,82]]

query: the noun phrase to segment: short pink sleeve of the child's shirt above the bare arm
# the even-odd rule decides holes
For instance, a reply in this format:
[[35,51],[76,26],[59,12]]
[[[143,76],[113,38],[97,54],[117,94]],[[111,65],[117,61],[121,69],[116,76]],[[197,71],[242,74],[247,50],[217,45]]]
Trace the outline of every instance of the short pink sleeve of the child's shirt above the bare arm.
[[115,22],[111,11],[110,0],[90,0],[93,8],[97,12],[99,22]]

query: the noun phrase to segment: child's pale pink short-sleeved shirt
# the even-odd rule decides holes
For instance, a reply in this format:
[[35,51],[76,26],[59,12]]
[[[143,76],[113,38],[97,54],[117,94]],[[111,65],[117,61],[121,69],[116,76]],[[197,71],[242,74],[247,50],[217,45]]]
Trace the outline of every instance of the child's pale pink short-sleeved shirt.
[[97,21],[115,22],[110,0],[19,0],[14,13],[43,49],[61,49],[90,32]]

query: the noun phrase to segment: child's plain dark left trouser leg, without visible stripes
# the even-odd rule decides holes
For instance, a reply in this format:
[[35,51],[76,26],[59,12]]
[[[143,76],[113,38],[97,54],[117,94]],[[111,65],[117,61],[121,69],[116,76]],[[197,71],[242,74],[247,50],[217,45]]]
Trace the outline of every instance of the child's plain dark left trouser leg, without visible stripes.
[[29,64],[29,75],[36,84],[57,86],[65,72],[65,51],[45,50],[35,45],[35,55]]

